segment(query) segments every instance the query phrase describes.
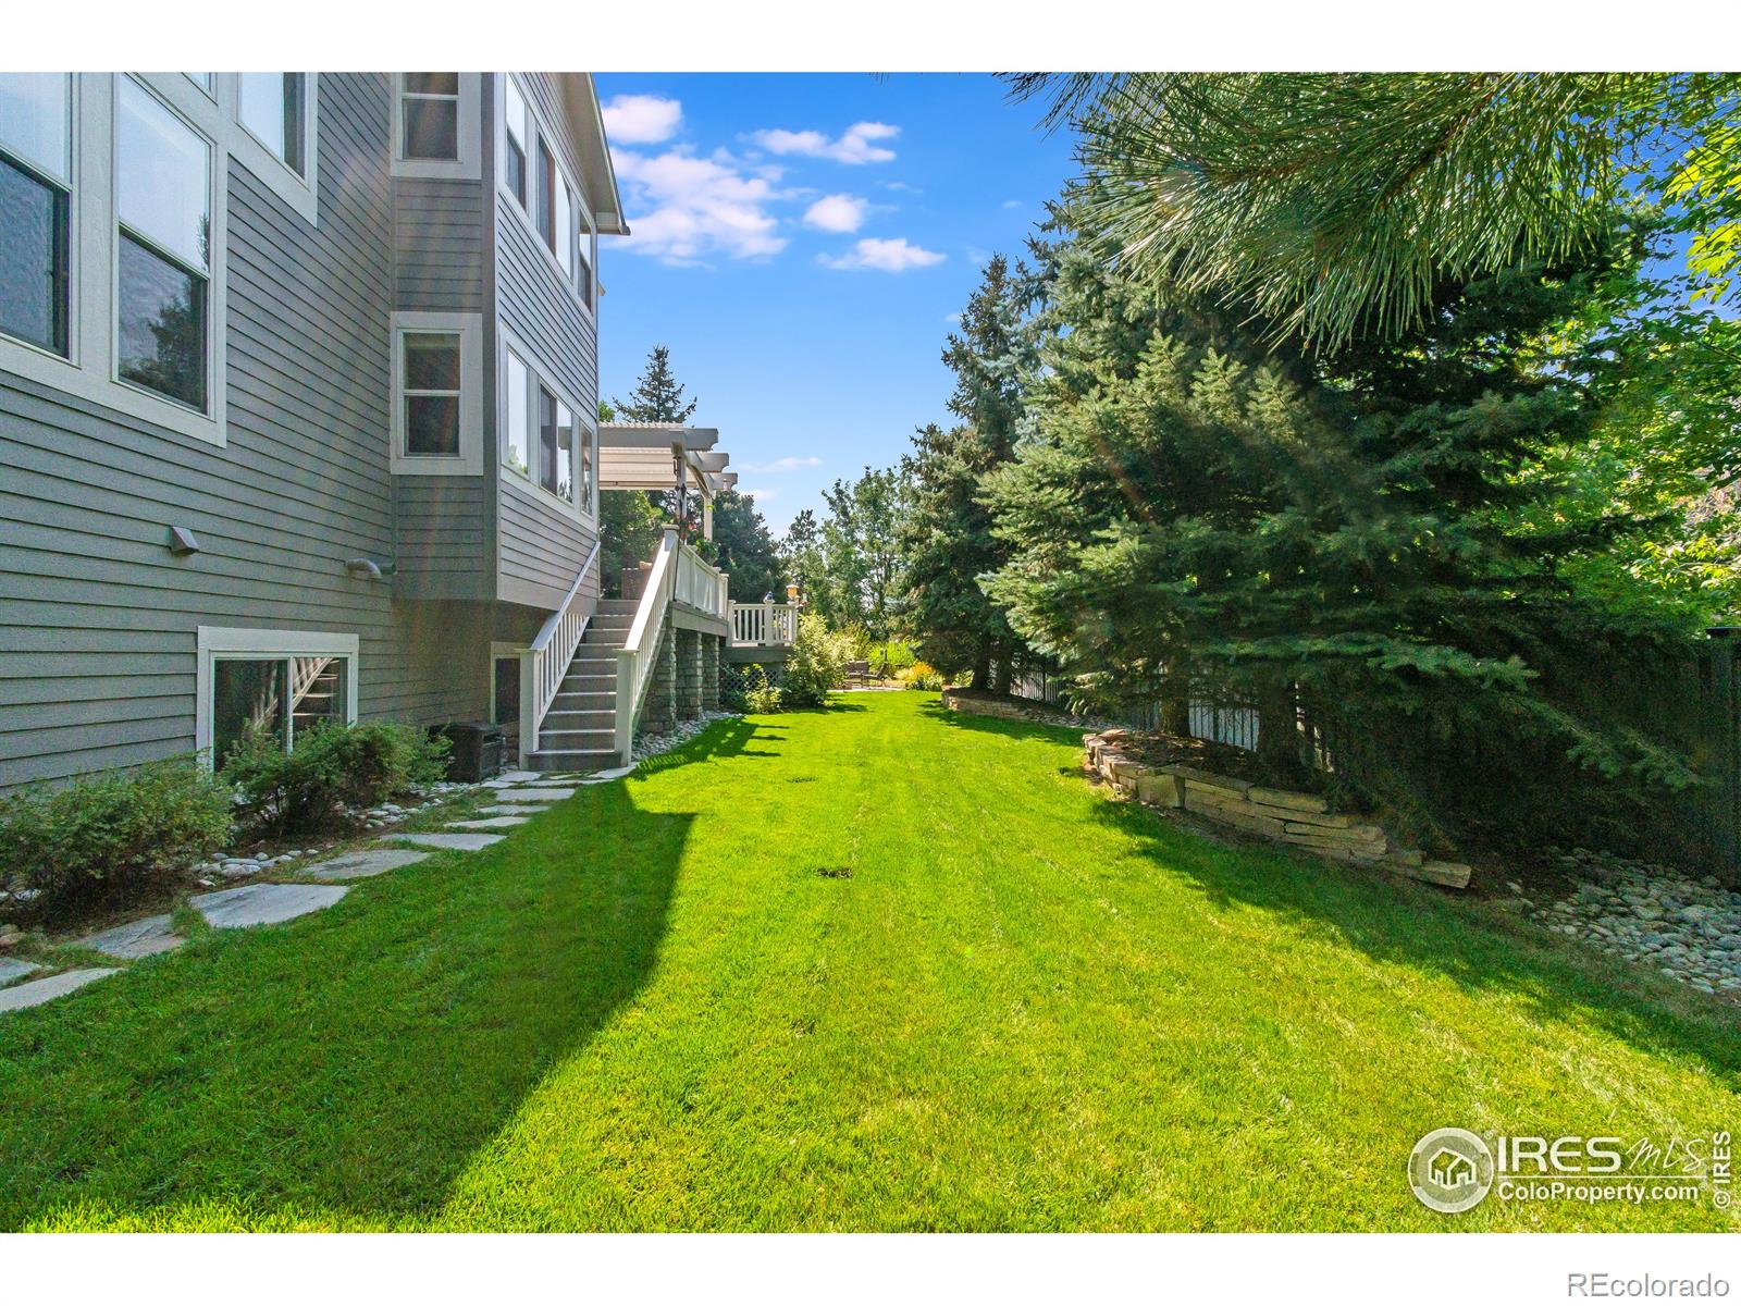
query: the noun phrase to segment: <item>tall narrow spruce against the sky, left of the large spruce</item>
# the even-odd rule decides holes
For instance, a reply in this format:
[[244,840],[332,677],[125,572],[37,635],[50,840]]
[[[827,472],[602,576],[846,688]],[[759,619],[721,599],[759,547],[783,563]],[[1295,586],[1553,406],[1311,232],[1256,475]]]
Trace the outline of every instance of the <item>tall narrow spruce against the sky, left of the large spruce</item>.
[[1013,456],[1024,414],[1020,296],[1008,259],[996,254],[944,350],[956,374],[949,411],[961,421],[919,430],[904,463],[912,498],[900,543],[919,655],[951,672],[971,669],[975,684],[999,691],[1025,646],[980,585],[1010,552],[992,535],[980,482]]

